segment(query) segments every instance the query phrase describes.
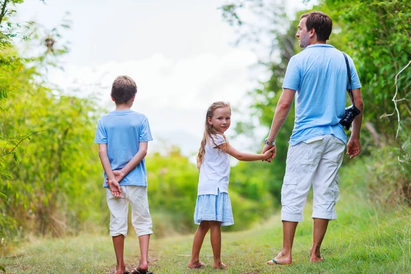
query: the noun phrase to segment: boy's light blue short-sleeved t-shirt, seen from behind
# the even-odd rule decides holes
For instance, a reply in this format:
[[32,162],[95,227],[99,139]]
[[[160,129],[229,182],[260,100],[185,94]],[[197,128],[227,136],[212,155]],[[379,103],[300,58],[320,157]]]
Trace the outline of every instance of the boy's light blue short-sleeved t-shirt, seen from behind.
[[[149,142],[149,121],[144,114],[134,110],[119,110],[101,116],[95,136],[96,144],[107,144],[108,160],[112,170],[122,169],[138,152],[139,142]],[[104,173],[104,187],[107,175]],[[129,172],[120,186],[147,186],[145,159]]]

